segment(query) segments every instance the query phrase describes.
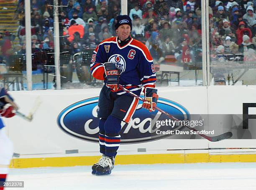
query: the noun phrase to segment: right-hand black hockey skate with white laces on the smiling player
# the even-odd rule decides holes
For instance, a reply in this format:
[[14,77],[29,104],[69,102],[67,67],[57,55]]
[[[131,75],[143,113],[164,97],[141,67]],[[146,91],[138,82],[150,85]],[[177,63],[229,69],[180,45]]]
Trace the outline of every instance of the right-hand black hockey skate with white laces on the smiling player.
[[114,168],[115,158],[106,155],[103,155],[102,158],[103,160],[96,167],[96,175],[108,175]]

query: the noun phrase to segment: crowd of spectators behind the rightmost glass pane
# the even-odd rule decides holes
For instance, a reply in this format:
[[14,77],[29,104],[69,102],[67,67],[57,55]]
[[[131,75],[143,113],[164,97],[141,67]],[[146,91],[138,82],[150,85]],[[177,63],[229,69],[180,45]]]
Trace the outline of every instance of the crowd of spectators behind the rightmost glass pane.
[[210,1],[212,61],[256,61],[256,0]]

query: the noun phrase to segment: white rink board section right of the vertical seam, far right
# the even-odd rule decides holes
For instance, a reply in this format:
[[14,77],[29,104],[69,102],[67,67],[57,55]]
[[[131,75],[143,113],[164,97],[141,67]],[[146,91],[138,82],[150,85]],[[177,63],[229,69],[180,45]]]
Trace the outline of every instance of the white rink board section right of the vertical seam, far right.
[[[256,103],[256,86],[209,86],[209,114],[243,114],[243,103]],[[249,113],[250,114],[250,113]],[[256,127],[256,126],[254,126]],[[255,139],[209,142],[210,148],[255,148]]]

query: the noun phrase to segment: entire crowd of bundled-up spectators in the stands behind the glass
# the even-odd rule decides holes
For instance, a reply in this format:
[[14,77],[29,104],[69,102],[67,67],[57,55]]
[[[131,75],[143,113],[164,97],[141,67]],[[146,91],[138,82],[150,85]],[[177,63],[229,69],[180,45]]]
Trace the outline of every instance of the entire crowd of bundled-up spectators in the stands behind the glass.
[[[70,47],[74,54],[116,35],[120,0],[60,2],[61,48]],[[53,3],[31,0],[32,53],[54,50],[54,10],[49,6]],[[241,54],[243,60],[255,60],[256,0],[210,0],[209,5],[211,59]],[[24,0],[19,0],[17,11],[24,12]],[[146,44],[156,62],[168,55],[182,63],[202,62],[201,0],[128,0],[128,15],[133,20],[131,36]],[[17,36],[20,50],[16,53],[25,54],[25,16]]]

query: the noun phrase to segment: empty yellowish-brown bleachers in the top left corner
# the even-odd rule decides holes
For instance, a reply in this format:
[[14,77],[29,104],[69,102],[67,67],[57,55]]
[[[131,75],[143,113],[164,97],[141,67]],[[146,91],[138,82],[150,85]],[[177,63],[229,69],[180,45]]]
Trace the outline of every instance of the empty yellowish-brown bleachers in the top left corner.
[[18,45],[17,30],[19,26],[19,17],[15,14],[18,0],[0,0],[0,32],[9,31],[16,37],[13,45]]

